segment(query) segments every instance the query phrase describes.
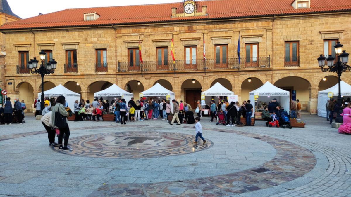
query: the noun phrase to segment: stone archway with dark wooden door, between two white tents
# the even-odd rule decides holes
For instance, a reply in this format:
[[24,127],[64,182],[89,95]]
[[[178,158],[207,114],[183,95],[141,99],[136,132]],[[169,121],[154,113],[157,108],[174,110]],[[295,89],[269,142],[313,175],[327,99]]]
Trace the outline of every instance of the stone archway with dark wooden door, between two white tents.
[[[194,80],[194,83],[192,82]],[[202,84],[197,79],[186,79],[181,83],[181,98],[189,103],[192,108],[196,106],[196,101],[201,99]]]

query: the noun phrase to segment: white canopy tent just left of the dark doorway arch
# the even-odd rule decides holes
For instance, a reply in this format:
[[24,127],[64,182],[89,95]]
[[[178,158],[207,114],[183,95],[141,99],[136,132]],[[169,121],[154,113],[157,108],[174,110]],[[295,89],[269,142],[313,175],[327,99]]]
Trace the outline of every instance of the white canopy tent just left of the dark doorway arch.
[[172,107],[171,109],[173,110],[172,100],[176,99],[176,94],[174,94],[174,92],[172,92],[171,90],[168,90],[167,88],[161,86],[161,84],[156,83],[151,88],[140,93],[140,97],[161,97],[162,96],[164,99],[167,99],[167,95],[170,97],[170,103]]

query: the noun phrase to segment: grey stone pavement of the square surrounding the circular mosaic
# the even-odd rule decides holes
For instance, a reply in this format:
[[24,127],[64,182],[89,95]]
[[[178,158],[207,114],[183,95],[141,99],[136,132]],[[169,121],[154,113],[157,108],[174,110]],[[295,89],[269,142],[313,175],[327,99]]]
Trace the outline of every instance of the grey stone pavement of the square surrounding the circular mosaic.
[[[307,155],[312,153],[313,157],[298,162],[307,162],[310,167],[301,169],[298,178],[259,187],[258,190],[250,188],[245,193],[234,192],[240,193],[237,195],[226,190],[231,186],[225,181],[216,182],[215,186],[204,182],[202,186],[211,185],[206,190],[214,190],[212,193],[204,193],[196,188],[192,192],[183,193],[181,187],[179,190],[179,187],[174,186],[164,190],[164,195],[351,196],[351,173],[348,170],[351,168],[351,135],[338,134],[337,129],[330,128],[325,118],[317,116],[304,116],[306,128],[293,129],[267,128],[263,121],[257,122],[255,127],[229,128],[216,126],[205,117],[201,120],[204,137],[213,142],[212,147],[186,155],[146,159],[105,159],[61,154],[48,147],[40,121],[29,115],[26,119],[27,123],[22,125],[0,126],[0,196],[99,196],[101,193],[97,193],[98,191],[106,188],[113,191],[112,189],[117,188],[111,187],[121,188],[123,184],[131,188],[130,194],[153,196],[145,188],[142,191],[132,188],[140,185],[159,186],[165,182],[183,184],[191,180],[208,180],[211,177],[225,177],[224,180],[228,182],[228,175],[248,172],[258,167],[266,167],[270,171],[261,174],[251,171],[258,175],[254,177],[268,176],[274,172],[272,168],[282,168],[283,165],[267,167],[267,164],[279,158],[279,152],[283,148],[289,149],[290,145],[277,147],[264,138],[280,139],[277,143],[286,142],[292,147],[306,150]],[[124,126],[113,122],[69,122],[69,125],[72,138],[146,130],[194,135],[190,125],[170,126],[161,120],[127,123]],[[313,161],[316,161],[316,165]],[[291,170],[287,166],[283,169],[285,172]],[[267,180],[269,178],[264,177],[263,181],[267,183]],[[239,182],[232,182],[231,185],[240,188]],[[157,196],[162,196],[160,194]]]

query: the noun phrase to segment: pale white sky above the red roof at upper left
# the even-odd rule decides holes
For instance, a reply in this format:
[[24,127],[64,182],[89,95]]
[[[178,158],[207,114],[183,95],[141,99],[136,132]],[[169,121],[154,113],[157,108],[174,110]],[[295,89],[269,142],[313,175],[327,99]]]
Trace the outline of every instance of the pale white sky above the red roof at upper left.
[[22,19],[47,14],[68,8],[125,6],[182,2],[182,0],[7,0],[12,12]]

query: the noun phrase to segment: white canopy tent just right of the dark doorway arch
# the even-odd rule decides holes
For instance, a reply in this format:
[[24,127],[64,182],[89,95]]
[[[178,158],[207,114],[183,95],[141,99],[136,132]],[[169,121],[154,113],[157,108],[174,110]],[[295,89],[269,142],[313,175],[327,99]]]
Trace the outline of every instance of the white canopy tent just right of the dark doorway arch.
[[[222,86],[219,82],[215,83],[211,88],[201,93],[201,105],[205,102],[206,105],[210,106],[212,97],[224,96],[228,98],[228,101],[238,101],[238,96],[234,95],[234,92]],[[217,101],[217,99],[215,99]]]

